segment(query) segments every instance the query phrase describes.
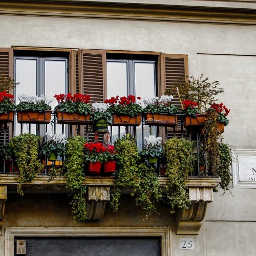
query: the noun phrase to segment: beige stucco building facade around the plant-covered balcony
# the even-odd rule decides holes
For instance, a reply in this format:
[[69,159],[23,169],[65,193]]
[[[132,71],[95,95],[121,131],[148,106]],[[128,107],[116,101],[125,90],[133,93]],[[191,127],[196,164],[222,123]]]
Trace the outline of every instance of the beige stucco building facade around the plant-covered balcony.
[[[126,254],[120,255],[256,254],[255,1],[1,1],[0,20],[0,69],[16,81],[28,81],[26,92],[54,94],[56,89],[103,101],[115,96],[108,73],[113,60],[131,68],[125,70],[131,80],[136,63],[153,65],[155,71],[148,73],[154,74],[153,89],[148,90],[158,95],[185,75],[219,80],[224,88],[219,100],[231,109],[223,137],[233,156],[231,193],[212,194],[218,179],[190,177],[194,208],[172,215],[159,203],[159,214],[148,219],[124,194],[118,212],[106,204],[100,220],[93,218],[102,212],[92,208],[92,220],[74,224],[65,178],[48,183],[39,177],[20,197],[15,175],[1,174],[0,255],[16,255],[16,240],[26,240],[27,255],[119,255],[122,247]],[[54,68],[55,63],[60,65]],[[112,68],[119,79],[121,69]],[[144,88],[140,93],[147,96]],[[91,178],[87,184],[92,189],[113,185],[110,178]],[[93,194],[92,201],[108,201],[103,192]]]

